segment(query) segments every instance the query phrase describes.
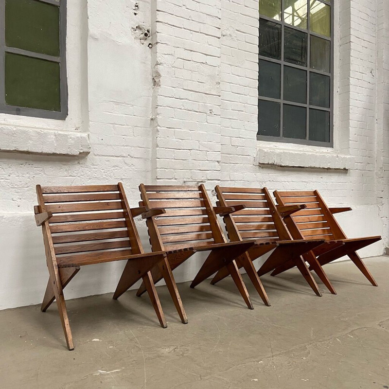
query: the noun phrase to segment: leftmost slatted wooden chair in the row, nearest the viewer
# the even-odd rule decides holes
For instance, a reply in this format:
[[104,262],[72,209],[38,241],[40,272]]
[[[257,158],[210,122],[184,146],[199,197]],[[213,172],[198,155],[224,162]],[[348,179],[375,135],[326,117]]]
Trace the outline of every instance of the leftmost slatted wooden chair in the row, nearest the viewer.
[[[94,186],[36,186],[38,205],[34,207],[37,226],[42,226],[49,282],[41,310],[57,302],[69,350],[73,339],[63,289],[82,265],[127,260],[119,281],[117,298],[123,285],[139,279],[150,296],[159,323],[166,327],[159,297],[150,270],[166,257],[159,250],[144,253],[133,216],[145,208],[130,209],[122,183]],[[144,213],[145,212],[145,213]],[[161,211],[162,212],[162,211]]]

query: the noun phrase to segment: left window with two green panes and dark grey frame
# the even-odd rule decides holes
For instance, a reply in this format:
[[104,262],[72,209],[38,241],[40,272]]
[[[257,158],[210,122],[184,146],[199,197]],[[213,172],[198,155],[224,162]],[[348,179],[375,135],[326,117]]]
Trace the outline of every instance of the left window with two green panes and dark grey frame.
[[0,112],[65,119],[66,0],[0,0]]

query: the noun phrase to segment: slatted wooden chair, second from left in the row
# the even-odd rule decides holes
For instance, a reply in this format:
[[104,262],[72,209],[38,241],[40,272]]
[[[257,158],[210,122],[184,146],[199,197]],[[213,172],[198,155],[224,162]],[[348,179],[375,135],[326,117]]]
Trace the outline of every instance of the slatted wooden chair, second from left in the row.
[[[148,186],[140,185],[141,207],[153,211],[162,207],[166,213],[147,219],[150,243],[153,250],[165,250],[165,266],[159,265],[151,271],[154,283],[164,278],[183,322],[186,314],[179,298],[172,270],[181,265],[196,251],[211,251],[191,283],[194,288],[221,267],[227,266],[232,279],[249,309],[253,309],[248,291],[236,267],[234,258],[245,252],[253,242],[227,243],[220,228],[211,201],[204,185],[200,186]],[[137,295],[145,291],[142,284]],[[186,320],[187,321],[187,320]]]

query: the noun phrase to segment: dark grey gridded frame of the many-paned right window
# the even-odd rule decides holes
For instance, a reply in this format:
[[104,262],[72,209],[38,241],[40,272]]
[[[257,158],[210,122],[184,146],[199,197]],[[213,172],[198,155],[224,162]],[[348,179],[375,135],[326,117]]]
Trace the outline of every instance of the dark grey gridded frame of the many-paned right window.
[[[308,4],[307,0],[307,4]],[[260,55],[258,53],[258,66],[259,66],[259,61],[264,60],[264,61],[269,61],[273,63],[277,63],[281,65],[281,95],[280,99],[273,99],[265,96],[260,96],[259,95],[259,88],[258,88],[258,102],[260,100],[265,100],[265,101],[270,101],[270,102],[276,102],[280,103],[280,136],[274,137],[274,136],[269,136],[269,135],[259,135],[257,133],[257,141],[272,141],[272,142],[282,142],[282,143],[295,143],[295,144],[303,144],[303,145],[310,145],[310,146],[321,146],[321,147],[334,147],[334,30],[335,30],[335,16],[334,16],[334,2],[335,0],[319,0],[323,2],[326,5],[330,6],[331,9],[331,34],[330,36],[325,36],[325,35],[320,35],[317,34],[313,31],[310,31],[310,8],[308,7],[308,15],[307,15],[307,29],[301,29],[296,26],[292,26],[290,24],[285,23],[284,20],[284,0],[281,0],[281,20],[276,20],[270,17],[267,17],[265,15],[259,14],[260,19],[264,19],[266,21],[270,21],[276,24],[281,25],[281,60],[265,57],[263,55]],[[259,5],[259,0],[258,0],[258,5]],[[300,65],[296,65],[293,63],[285,62],[284,61],[284,28],[290,28],[294,29],[296,31],[301,31],[303,33],[307,34],[307,66],[303,67]],[[258,30],[259,31],[259,30]],[[318,71],[315,69],[310,68],[310,60],[311,60],[311,35],[317,36],[318,38],[325,39],[330,42],[331,44],[331,49],[330,49],[330,72],[325,72],[325,71]],[[301,69],[307,72],[307,104],[301,104],[301,103],[295,103],[291,101],[284,100],[283,98],[283,69],[284,66],[290,66],[295,69]],[[258,76],[259,76],[260,69],[258,69]],[[310,88],[310,77],[309,73],[318,73],[321,75],[325,76],[330,76],[330,107],[325,108],[325,107],[319,107],[319,106],[313,106],[309,104],[309,88]],[[291,105],[291,106],[301,106],[306,108],[306,137],[305,139],[296,139],[296,138],[285,138],[283,137],[283,105]],[[309,110],[310,108],[312,109],[318,109],[321,111],[325,112],[330,112],[330,141],[329,142],[324,142],[324,141],[312,141],[309,140]],[[258,112],[258,119],[259,119],[260,113]]]

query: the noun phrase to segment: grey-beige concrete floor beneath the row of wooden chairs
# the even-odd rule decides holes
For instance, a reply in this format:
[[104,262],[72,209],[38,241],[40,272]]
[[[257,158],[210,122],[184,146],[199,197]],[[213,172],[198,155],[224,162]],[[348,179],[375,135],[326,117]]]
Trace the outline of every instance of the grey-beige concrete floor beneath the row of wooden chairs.
[[263,277],[265,307],[246,276],[254,310],[230,279],[179,284],[189,324],[158,288],[159,327],[135,291],[68,301],[75,350],[56,306],[0,312],[1,389],[382,389],[389,387],[389,258],[366,260],[373,287],[351,262],[326,265],[338,292],[314,295],[292,269]]

